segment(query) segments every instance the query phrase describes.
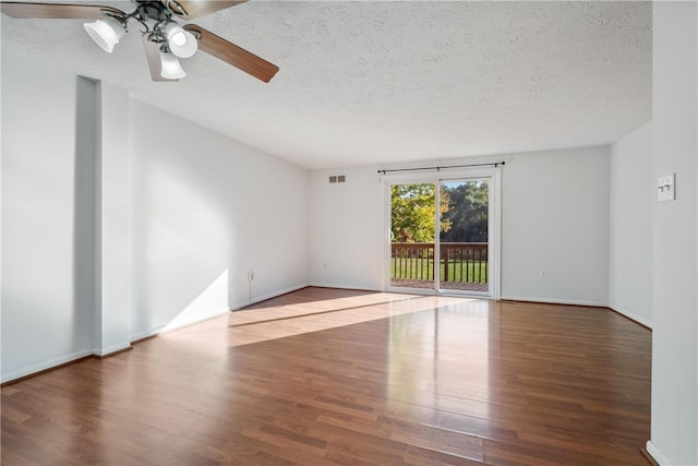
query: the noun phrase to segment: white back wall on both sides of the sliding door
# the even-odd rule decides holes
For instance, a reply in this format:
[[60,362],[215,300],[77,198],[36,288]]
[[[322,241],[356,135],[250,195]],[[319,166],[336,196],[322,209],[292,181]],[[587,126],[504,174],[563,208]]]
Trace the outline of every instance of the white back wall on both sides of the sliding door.
[[[502,169],[502,297],[605,306],[607,148],[509,154],[444,165],[488,160],[506,162]],[[387,226],[377,169],[312,174],[311,283],[383,287]],[[347,182],[329,183],[330,175],[346,175]],[[547,271],[546,279],[540,278],[541,268]]]

